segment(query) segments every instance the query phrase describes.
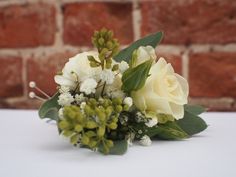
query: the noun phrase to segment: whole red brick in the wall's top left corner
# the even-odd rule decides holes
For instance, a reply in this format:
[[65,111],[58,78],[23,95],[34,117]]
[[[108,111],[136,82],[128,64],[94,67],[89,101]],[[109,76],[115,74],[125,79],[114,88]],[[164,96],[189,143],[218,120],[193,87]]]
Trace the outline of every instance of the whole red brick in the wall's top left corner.
[[48,4],[0,8],[0,48],[35,47],[54,43],[55,9]]

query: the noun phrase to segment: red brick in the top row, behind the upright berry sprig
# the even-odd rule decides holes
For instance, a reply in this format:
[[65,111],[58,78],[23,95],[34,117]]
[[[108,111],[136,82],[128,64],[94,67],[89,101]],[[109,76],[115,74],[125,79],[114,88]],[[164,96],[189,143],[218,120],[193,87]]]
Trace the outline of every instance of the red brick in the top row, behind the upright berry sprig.
[[133,40],[131,3],[72,3],[64,7],[64,42],[91,46],[94,30],[112,29],[122,44]]

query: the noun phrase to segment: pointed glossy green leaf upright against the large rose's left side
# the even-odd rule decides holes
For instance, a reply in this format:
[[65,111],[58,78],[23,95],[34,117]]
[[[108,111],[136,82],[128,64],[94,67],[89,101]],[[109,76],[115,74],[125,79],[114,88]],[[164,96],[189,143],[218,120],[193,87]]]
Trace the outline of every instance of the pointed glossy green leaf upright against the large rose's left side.
[[153,60],[148,60],[134,68],[126,70],[122,76],[122,90],[129,93],[142,88],[148,78]]

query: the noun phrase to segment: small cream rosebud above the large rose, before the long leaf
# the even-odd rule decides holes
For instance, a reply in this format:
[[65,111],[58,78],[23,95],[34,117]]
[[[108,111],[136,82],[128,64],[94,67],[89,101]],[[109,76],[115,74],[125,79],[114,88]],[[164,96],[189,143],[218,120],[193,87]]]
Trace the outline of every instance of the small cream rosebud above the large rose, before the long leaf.
[[156,60],[157,56],[155,49],[152,46],[141,46],[137,49],[137,59],[134,62],[134,66],[137,66],[147,60]]

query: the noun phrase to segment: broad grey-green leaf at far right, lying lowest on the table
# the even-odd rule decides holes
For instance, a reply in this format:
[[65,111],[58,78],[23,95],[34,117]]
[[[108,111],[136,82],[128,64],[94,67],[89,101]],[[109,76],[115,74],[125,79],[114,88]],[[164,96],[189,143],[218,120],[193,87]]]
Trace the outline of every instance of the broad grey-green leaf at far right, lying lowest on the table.
[[[193,111],[199,113],[200,111]],[[207,128],[206,122],[193,112],[185,110],[184,118],[177,120],[177,124],[188,134],[194,135],[200,133]]]

